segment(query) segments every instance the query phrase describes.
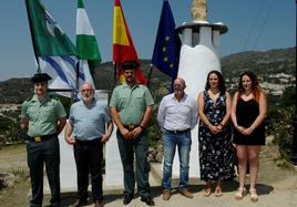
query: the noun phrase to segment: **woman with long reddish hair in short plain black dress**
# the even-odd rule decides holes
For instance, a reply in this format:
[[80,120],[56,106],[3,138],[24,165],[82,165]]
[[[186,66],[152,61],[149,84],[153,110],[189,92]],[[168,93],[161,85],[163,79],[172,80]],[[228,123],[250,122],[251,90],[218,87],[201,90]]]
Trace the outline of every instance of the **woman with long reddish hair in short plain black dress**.
[[245,194],[245,176],[249,165],[249,195],[257,201],[256,182],[259,169],[260,146],[265,145],[264,120],[266,117],[266,97],[252,72],[244,72],[239,79],[239,87],[232,103],[232,121],[234,124],[233,142],[236,144],[239,168],[239,188],[235,195],[242,199]]

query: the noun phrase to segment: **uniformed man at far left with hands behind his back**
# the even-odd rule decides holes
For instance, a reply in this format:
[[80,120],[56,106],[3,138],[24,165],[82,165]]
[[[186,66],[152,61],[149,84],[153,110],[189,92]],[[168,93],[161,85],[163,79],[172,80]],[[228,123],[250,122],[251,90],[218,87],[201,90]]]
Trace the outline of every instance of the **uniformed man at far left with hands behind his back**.
[[66,123],[60,101],[48,94],[47,73],[34,74],[34,95],[22,104],[21,118],[28,128],[28,166],[32,199],[30,207],[41,207],[43,198],[43,166],[51,188],[51,205],[60,206],[60,148],[58,135]]

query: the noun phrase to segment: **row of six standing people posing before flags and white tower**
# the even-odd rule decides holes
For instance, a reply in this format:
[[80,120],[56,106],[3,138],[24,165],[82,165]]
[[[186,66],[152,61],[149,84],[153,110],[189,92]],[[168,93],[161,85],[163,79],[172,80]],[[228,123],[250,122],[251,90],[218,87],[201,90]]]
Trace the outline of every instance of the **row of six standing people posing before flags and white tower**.
[[[148,183],[146,133],[154,100],[150,90],[136,82],[139,63],[125,61],[121,66],[125,83],[113,90],[110,107],[94,99],[92,84],[84,83],[80,89],[82,100],[71,106],[68,122],[60,101],[48,93],[51,77],[45,73],[32,77],[34,95],[24,101],[21,111],[29,137],[27,151],[32,187],[31,207],[42,206],[44,164],[52,194],[51,205],[60,206],[58,134],[65,125],[65,141],[73,145],[78,173],[78,194],[72,206],[80,207],[88,203],[89,174],[94,206],[103,206],[102,149],[113,132],[113,123],[117,127],[116,138],[124,173],[123,204],[127,205],[134,198],[136,183],[141,200],[148,206],[155,205]],[[265,144],[263,123],[266,99],[256,76],[250,72],[242,74],[233,101],[218,71],[208,73],[205,90],[198,94],[197,101],[185,93],[186,83],[182,77],[174,81],[173,89],[174,92],[161,101],[157,113],[163,132],[163,199],[168,200],[172,195],[172,165],[176,147],[180,157],[177,188],[183,196],[193,198],[188,188],[191,130],[199,117],[201,178],[206,183],[204,196],[213,193],[213,183],[215,196],[222,196],[222,182],[236,176],[236,156],[239,188],[235,198],[242,199],[247,193],[245,177],[248,164],[250,199],[257,201],[256,180],[260,146]]]

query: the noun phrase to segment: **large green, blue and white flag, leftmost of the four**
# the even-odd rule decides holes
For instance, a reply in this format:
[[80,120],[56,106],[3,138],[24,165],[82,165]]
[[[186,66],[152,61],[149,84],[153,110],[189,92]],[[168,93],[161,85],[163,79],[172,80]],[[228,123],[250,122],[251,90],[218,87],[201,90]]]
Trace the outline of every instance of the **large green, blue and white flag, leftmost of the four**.
[[[35,59],[40,70],[52,77],[49,87],[75,89],[75,46],[40,0],[25,0],[25,6]],[[83,71],[78,76],[80,83],[85,81]]]

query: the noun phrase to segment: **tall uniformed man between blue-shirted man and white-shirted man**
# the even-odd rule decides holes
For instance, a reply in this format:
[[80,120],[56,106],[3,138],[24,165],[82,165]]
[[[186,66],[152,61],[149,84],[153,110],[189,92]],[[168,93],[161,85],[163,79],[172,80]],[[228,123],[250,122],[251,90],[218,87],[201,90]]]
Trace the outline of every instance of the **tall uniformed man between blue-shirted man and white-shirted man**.
[[152,114],[154,100],[146,86],[136,83],[139,66],[135,61],[123,62],[125,83],[114,89],[110,107],[112,118],[117,126],[116,137],[124,169],[125,196],[123,204],[127,205],[134,197],[135,152],[136,180],[141,200],[148,206],[154,206],[148,184],[148,142],[145,130]]

